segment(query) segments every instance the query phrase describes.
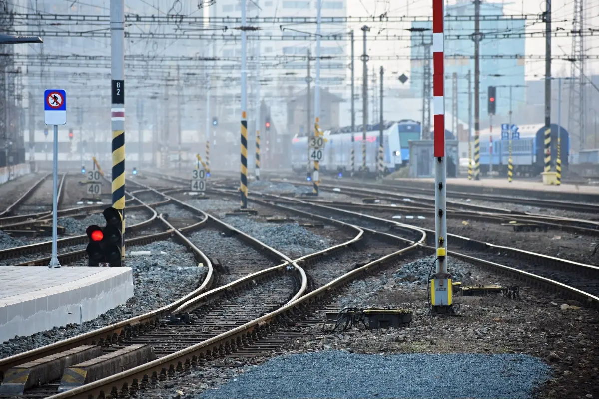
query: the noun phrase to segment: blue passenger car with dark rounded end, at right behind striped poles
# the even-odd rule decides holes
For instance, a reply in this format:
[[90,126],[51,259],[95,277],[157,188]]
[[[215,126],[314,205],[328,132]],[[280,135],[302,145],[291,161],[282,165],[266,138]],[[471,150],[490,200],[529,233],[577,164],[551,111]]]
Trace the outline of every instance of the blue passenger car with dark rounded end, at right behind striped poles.
[[[557,157],[558,125],[552,123],[551,127],[551,160],[552,165]],[[568,151],[570,150],[570,136],[562,126],[560,129],[560,158],[562,167],[568,165]],[[512,162],[514,172],[519,175],[538,175],[543,172],[544,164],[544,125],[528,124],[518,126],[520,138],[512,140]],[[507,158],[509,154],[509,140],[501,139],[501,130],[489,132],[489,129],[480,132],[480,172],[489,171],[489,162],[492,170],[501,175],[507,175]],[[492,154],[489,146],[493,139]],[[474,154],[474,140],[470,142]],[[473,155],[474,156],[474,155]]]

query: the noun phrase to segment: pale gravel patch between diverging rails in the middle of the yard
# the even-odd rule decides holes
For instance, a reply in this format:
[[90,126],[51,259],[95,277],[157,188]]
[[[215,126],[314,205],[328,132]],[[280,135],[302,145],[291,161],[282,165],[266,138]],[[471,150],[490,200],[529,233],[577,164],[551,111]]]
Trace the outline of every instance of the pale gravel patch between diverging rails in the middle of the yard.
[[247,217],[226,217],[223,221],[291,258],[322,251],[332,245],[329,239],[308,232],[295,223],[256,223]]

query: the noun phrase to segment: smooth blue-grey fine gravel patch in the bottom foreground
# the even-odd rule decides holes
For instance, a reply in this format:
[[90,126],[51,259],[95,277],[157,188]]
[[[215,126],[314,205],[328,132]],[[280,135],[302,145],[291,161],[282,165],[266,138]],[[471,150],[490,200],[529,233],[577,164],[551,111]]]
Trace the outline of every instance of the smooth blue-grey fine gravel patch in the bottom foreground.
[[199,397],[527,398],[549,370],[524,354],[320,351],[273,358]]

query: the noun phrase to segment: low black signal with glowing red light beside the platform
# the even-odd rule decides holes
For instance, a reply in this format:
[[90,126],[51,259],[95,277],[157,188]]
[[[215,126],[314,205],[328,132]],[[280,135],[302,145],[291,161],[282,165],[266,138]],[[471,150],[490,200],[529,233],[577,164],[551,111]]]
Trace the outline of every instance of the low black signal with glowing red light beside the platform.
[[89,266],[122,266],[122,217],[114,208],[104,209],[106,227],[87,227],[89,237],[86,252],[89,256]]

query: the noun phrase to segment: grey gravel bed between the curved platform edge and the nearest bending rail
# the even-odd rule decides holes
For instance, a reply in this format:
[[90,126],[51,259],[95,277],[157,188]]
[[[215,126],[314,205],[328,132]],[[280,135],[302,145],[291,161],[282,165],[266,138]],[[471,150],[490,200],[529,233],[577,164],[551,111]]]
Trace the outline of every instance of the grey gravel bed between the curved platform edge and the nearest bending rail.
[[48,345],[105,325],[149,312],[171,303],[195,290],[204,279],[203,268],[197,267],[186,249],[171,241],[130,247],[136,251],[162,251],[165,254],[129,256],[127,266],[133,269],[135,296],[123,306],[109,310],[83,324],[55,327],[29,337],[19,337],[0,345],[0,358],[8,357],[39,346]]

